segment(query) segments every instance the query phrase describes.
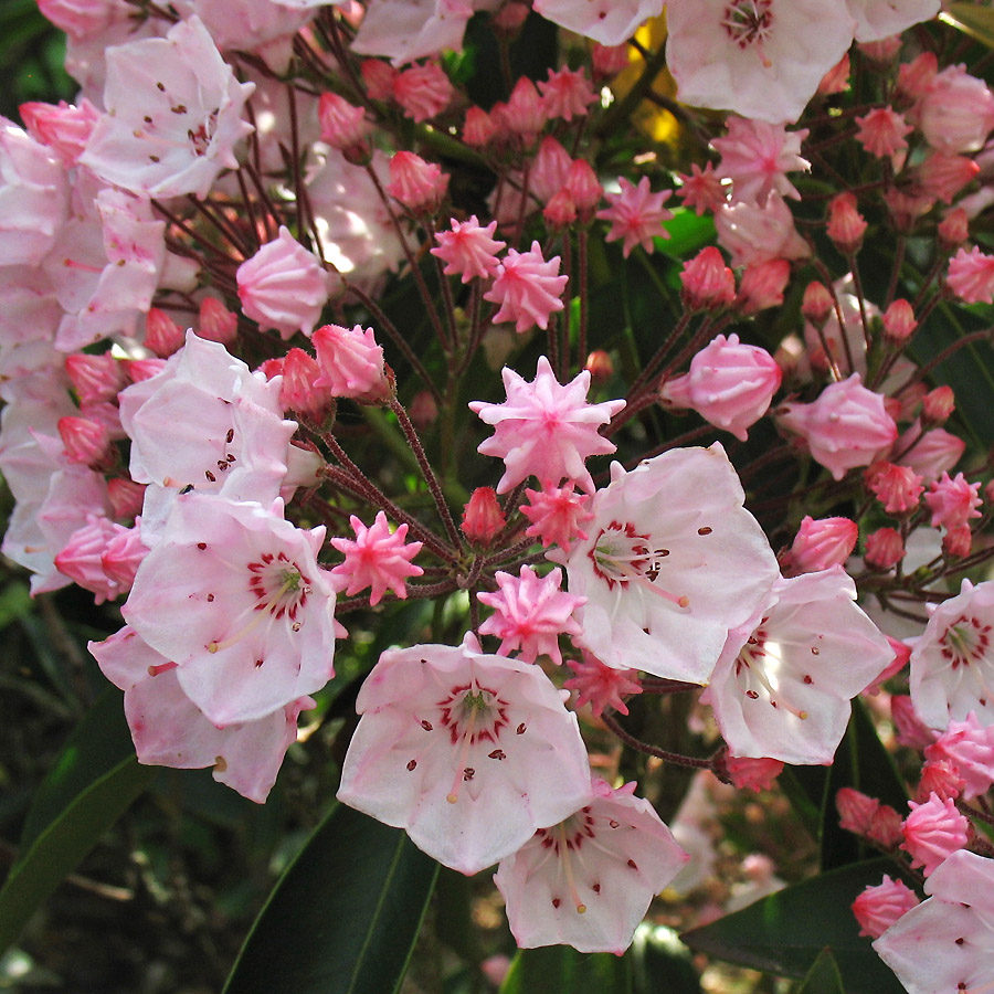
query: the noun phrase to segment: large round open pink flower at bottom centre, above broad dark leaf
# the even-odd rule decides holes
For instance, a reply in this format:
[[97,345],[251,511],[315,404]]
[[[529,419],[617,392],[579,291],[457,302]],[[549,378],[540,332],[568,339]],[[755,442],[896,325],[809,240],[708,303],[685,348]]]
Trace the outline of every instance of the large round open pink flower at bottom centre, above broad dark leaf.
[[590,797],[574,715],[538,666],[461,646],[389,649],[359,690],[343,804],[475,874]]

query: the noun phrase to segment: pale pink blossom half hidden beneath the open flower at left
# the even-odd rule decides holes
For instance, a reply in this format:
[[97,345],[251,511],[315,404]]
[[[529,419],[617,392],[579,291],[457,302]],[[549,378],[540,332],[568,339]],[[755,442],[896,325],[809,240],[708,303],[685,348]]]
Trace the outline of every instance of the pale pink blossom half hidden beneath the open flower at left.
[[212,775],[250,801],[262,804],[287,748],[297,739],[297,715],[314,707],[309,697],[290,701],[263,718],[219,728],[180,687],[177,668],[125,626],[91,653],[104,675],[125,692],[125,717],[138,762]]

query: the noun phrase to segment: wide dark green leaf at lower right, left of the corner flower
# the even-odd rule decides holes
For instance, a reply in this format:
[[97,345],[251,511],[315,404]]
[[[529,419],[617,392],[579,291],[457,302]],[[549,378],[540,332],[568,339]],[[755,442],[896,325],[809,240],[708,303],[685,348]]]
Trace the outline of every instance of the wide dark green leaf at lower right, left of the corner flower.
[[697,952],[797,980],[828,949],[846,994],[902,994],[870,940],[859,935],[849,909],[865,887],[893,871],[890,859],[850,864],[685,932],[681,939]]

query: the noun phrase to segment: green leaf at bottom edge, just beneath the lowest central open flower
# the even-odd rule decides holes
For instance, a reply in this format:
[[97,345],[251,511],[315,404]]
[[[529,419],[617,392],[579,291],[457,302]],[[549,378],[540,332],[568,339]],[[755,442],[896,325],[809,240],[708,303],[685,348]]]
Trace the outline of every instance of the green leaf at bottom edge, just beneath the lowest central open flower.
[[580,953],[569,945],[521,949],[500,994],[631,994],[626,956]]

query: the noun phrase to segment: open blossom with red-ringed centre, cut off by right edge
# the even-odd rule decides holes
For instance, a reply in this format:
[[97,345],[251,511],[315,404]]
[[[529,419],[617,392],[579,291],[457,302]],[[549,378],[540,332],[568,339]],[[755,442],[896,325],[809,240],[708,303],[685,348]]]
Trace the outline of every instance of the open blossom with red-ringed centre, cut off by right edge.
[[973,711],[994,723],[994,581],[939,604],[911,649],[911,700],[924,725],[944,729]]

